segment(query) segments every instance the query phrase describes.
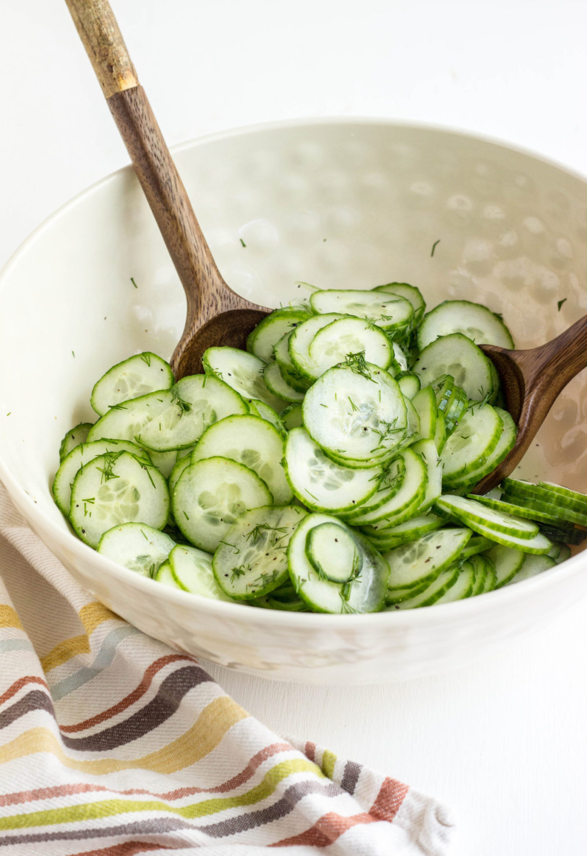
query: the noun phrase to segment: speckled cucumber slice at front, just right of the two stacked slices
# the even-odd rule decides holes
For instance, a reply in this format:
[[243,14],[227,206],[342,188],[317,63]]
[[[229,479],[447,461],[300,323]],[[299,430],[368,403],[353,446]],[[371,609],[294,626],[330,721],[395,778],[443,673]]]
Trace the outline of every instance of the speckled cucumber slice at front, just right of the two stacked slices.
[[442,571],[459,559],[460,551],[469,538],[470,529],[439,529],[390,550],[384,556],[389,564],[388,591],[436,580]]

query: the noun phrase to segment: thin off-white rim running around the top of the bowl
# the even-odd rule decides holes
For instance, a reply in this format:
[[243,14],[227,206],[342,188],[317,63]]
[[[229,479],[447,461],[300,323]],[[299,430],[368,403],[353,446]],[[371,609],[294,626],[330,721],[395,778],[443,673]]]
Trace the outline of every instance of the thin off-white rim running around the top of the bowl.
[[[414,121],[396,121],[385,116],[311,116],[299,117],[294,119],[280,119],[274,122],[259,122],[251,125],[240,126],[236,128],[228,128],[223,131],[217,131],[212,134],[205,134],[201,137],[185,140],[175,146],[170,146],[172,154],[186,152],[198,146],[205,146],[217,141],[228,140],[234,137],[245,136],[248,134],[256,134],[258,132],[285,130],[288,128],[311,128],[320,125],[347,125],[347,126],[381,126],[391,128],[406,128],[408,130],[416,130],[423,132],[433,132],[446,136],[455,136],[462,139],[473,140],[476,142],[486,143],[490,146],[496,146],[501,149],[506,149],[510,152],[515,152],[526,158],[531,158],[538,162],[544,163],[549,167],[559,170],[569,177],[587,183],[587,175],[582,175],[578,171],[570,169],[563,163],[559,163],[552,158],[545,158],[539,152],[531,151],[523,146],[516,146],[507,143],[505,140],[490,137],[484,134],[474,134],[459,128],[450,128],[440,124],[430,122],[414,122]],[[27,235],[19,247],[16,247],[14,253],[9,256],[6,263],[0,269],[0,293],[3,291],[3,283],[9,276],[13,268],[18,265],[21,256],[24,256],[28,248],[43,235],[45,229],[50,229],[60,217],[78,205],[82,200],[86,200],[92,196],[92,193],[97,193],[104,185],[110,181],[116,181],[121,175],[134,175],[132,164],[127,164],[114,170],[108,175],[104,175],[98,181],[93,182],[88,187],[76,193],[71,199],[68,199],[60,205],[56,211],[53,211],[48,217],[39,223],[33,231]],[[52,537],[65,550],[73,551],[80,562],[86,562],[89,559],[91,562],[98,562],[98,566],[102,568],[104,573],[110,574],[117,583],[130,586],[130,588],[138,587],[139,590],[153,591],[152,586],[156,584],[155,580],[144,577],[140,574],[135,574],[128,568],[112,562],[105,556],[101,556],[96,550],[92,550],[87,544],[84,544],[68,529],[63,530],[52,520],[48,514],[45,514],[42,508],[39,508],[38,503],[30,496],[21,484],[13,477],[8,465],[3,460],[3,455],[0,452],[0,480],[6,487],[11,501],[15,503],[16,508],[23,514],[26,520],[32,518],[40,518],[43,522],[44,529],[48,529]],[[57,559],[57,561],[59,561]],[[467,617],[482,615],[489,606],[488,596],[492,598],[491,603],[495,603],[495,609],[499,609],[500,603],[515,603],[519,600],[525,600],[526,592],[538,591],[541,588],[556,586],[556,580],[562,580],[570,575],[579,572],[581,566],[584,565],[584,559],[581,559],[581,554],[571,556],[566,562],[563,562],[563,567],[555,565],[554,568],[549,568],[542,574],[532,577],[529,580],[523,580],[522,585],[504,586],[501,589],[486,592],[483,598],[469,597],[464,601],[456,601],[454,603],[439,603],[433,604],[436,608],[430,612],[430,609],[406,609],[394,610],[387,609],[375,613],[365,613],[360,615],[331,615],[329,613],[303,613],[289,612],[275,609],[255,609],[251,612],[251,607],[246,603],[228,603],[226,601],[214,600],[202,595],[193,594],[189,591],[175,590],[170,586],[159,586],[158,597],[165,598],[170,604],[186,605],[193,603],[201,609],[205,609],[210,614],[216,616],[220,620],[230,620],[231,616],[234,619],[246,620],[246,615],[250,619],[254,618],[254,622],[270,627],[279,621],[280,627],[288,626],[288,629],[296,630],[304,627],[317,627],[317,621],[325,622],[329,629],[340,627],[341,630],[347,630],[350,627],[364,628],[366,624],[370,627],[388,628],[405,628],[419,627],[426,624],[444,624],[452,621],[457,615],[465,614]],[[69,573],[69,572],[68,572]],[[521,591],[520,591],[521,590]],[[238,610],[238,611],[237,611]],[[246,610],[246,611],[245,611]],[[394,619],[388,618],[388,615],[394,614]],[[276,615],[278,618],[276,618]],[[436,615],[436,621],[435,621]],[[334,623],[333,623],[334,622]],[[393,622],[393,623],[392,623]]]

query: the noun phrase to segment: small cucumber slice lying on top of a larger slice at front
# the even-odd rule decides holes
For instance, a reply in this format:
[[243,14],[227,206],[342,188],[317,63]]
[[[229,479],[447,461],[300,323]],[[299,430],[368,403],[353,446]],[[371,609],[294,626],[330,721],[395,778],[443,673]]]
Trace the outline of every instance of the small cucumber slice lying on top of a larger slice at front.
[[363,552],[346,526],[321,523],[308,532],[305,555],[321,580],[350,583],[361,573]]

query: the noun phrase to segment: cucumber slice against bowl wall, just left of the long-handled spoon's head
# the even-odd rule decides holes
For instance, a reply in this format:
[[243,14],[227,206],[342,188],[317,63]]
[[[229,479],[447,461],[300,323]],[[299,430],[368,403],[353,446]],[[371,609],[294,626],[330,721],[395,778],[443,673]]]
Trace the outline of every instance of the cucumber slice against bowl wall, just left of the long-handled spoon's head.
[[145,351],[135,354],[122,363],[116,363],[95,383],[90,403],[98,416],[104,416],[115,407],[139,395],[147,395],[158,389],[170,389],[175,382],[169,364]]

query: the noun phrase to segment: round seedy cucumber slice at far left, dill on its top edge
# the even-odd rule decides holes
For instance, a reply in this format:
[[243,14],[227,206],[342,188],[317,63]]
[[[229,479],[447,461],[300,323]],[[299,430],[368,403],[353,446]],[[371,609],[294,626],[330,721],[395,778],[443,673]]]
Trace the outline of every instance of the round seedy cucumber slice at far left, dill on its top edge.
[[163,529],[168,517],[165,479],[156,467],[129,452],[100,455],[75,476],[69,520],[91,547],[113,526],[140,522]]

